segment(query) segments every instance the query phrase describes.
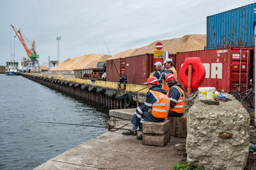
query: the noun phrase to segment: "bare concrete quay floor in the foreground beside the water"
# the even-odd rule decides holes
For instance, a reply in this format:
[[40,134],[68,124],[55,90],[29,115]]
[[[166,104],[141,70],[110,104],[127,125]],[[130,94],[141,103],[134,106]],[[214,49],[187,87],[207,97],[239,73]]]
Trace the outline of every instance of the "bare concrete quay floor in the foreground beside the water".
[[[134,109],[120,112],[124,118],[131,118]],[[113,114],[118,113],[111,113],[112,117]],[[117,127],[131,128],[127,120],[118,122]],[[171,138],[164,147],[149,146],[142,145],[136,136],[124,136],[122,132],[124,130],[108,131],[35,169],[173,169],[183,158],[186,138]]]

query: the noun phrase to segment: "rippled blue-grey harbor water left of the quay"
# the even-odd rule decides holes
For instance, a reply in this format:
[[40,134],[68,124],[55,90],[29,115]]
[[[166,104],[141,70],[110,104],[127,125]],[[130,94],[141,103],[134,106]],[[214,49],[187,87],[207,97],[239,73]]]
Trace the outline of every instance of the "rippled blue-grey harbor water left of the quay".
[[108,129],[108,114],[22,76],[0,74],[0,169],[33,169]]

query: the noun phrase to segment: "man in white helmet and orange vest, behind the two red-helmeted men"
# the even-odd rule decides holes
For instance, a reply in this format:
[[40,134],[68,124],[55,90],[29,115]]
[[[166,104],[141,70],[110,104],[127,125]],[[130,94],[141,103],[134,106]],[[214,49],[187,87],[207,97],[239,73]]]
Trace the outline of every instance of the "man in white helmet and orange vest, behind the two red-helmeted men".
[[166,70],[164,71],[163,75],[162,75],[162,89],[167,90],[169,89],[168,87],[168,83],[165,80],[166,74],[172,73],[174,75],[174,77],[177,79],[177,71],[175,69],[175,67],[173,67],[173,62],[172,59],[166,59],[163,62],[164,67],[166,68]]

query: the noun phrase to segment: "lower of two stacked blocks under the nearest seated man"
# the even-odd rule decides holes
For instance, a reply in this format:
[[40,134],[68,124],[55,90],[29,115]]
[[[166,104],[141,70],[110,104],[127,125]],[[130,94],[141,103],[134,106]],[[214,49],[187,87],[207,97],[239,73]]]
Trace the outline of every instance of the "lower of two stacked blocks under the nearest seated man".
[[143,145],[165,146],[169,142],[170,132],[166,132],[166,134],[143,134]]

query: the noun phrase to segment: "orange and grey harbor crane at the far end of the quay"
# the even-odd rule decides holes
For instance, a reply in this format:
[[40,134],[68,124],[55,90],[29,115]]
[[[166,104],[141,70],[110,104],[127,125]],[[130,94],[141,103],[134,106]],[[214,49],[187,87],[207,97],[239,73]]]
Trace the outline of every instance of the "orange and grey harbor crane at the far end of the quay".
[[15,36],[18,36],[20,42],[22,43],[22,45],[24,46],[26,53],[28,55],[28,58],[23,57],[22,58],[22,66],[27,67],[27,71],[28,69],[31,69],[32,67],[36,67],[36,71],[41,71],[40,68],[40,64],[39,64],[39,55],[38,53],[36,53],[36,44],[35,44],[35,40],[33,40],[33,43],[31,45],[31,49],[28,48],[28,46],[26,45],[23,36],[20,32],[20,29],[16,30],[15,27],[11,24],[11,27],[13,29],[13,31],[15,32]]

